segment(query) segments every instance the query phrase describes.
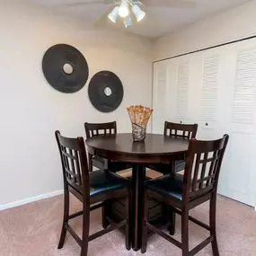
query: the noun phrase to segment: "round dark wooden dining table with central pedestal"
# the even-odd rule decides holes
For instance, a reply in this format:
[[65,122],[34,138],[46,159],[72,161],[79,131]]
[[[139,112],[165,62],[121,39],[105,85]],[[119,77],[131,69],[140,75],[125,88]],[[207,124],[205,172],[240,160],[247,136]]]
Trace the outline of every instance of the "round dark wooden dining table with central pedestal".
[[[118,162],[132,163],[131,242],[132,248],[141,248],[144,181],[146,166],[154,163],[172,163],[188,150],[189,140],[146,134],[144,142],[134,142],[132,134],[102,135],[87,138],[88,152]],[[171,170],[170,170],[171,172]]]

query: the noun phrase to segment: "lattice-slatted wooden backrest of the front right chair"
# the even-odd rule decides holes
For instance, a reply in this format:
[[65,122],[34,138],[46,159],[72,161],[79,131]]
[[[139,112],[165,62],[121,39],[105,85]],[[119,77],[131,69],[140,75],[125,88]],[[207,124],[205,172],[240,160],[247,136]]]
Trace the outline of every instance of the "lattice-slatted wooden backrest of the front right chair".
[[228,138],[228,135],[225,135],[214,141],[190,140],[184,172],[185,199],[216,190]]

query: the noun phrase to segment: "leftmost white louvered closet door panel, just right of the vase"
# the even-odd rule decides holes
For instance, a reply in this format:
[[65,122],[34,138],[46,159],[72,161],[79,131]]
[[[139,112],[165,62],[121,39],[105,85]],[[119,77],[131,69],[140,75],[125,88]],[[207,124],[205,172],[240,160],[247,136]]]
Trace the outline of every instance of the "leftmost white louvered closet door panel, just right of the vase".
[[168,61],[154,63],[152,132],[163,134],[168,101]]

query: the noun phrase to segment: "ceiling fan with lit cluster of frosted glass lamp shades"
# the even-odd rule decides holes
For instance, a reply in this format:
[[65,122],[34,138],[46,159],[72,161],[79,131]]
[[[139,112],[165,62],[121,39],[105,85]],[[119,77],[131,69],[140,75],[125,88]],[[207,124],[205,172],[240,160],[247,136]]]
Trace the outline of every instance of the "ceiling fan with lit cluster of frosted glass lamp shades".
[[61,4],[61,6],[72,7],[105,4],[109,6],[109,9],[94,23],[94,26],[101,27],[107,20],[110,20],[113,23],[121,21],[124,27],[128,28],[135,22],[143,21],[145,17],[150,14],[146,7],[190,8],[196,5],[195,1],[196,0],[89,0],[71,4]]

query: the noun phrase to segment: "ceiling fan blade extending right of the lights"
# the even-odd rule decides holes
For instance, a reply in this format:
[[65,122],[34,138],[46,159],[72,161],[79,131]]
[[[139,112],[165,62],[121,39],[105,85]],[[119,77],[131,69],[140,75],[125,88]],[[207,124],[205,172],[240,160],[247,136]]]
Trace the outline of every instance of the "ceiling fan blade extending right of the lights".
[[148,7],[192,8],[197,5],[195,0],[141,0],[141,2]]

